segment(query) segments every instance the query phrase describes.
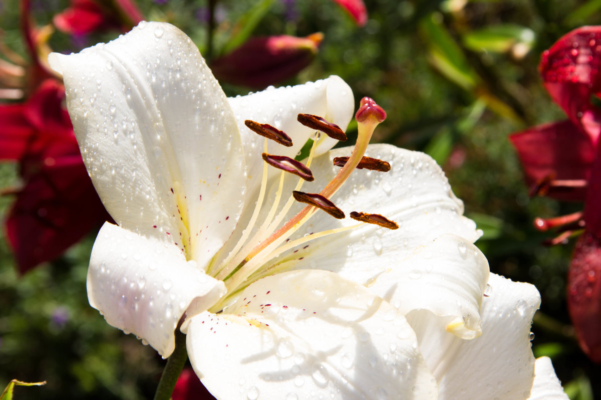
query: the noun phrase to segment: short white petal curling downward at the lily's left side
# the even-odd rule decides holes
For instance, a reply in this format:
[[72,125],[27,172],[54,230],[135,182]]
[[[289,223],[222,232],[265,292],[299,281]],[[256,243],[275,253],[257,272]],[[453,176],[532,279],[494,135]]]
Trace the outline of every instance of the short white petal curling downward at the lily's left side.
[[225,293],[225,285],[186,261],[177,246],[139,236],[106,222],[88,269],[90,305],[106,321],[148,342],[163,357],[175,345],[183,313],[203,312]]

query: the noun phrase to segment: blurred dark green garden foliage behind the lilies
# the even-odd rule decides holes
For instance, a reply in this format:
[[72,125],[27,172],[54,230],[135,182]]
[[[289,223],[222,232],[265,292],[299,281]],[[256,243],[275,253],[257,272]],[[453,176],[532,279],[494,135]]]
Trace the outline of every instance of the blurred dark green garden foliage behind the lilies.
[[[31,73],[35,56],[24,38],[24,3],[0,2],[0,81],[10,76],[6,63],[26,65],[25,80],[2,81],[7,107],[32,98],[31,85],[40,82]],[[388,113],[374,142],[435,158],[465,202],[466,215],[484,231],[476,244],[490,270],[540,291],[542,306],[532,326],[535,356],[552,358],[571,399],[601,396],[601,371],[580,350],[566,308],[575,239],[546,245],[557,233],[538,231],[532,224],[535,217],[576,212],[582,204],[529,197],[508,140],[516,131],[566,118],[543,88],[540,55],[570,30],[600,24],[601,1],[365,0],[366,19],[353,17],[332,0],[138,0],[135,11],[115,1],[109,6],[99,2],[104,25],[93,29],[69,28],[69,18],[61,13],[75,10],[76,3],[27,4],[36,49],[78,52],[112,40],[142,16],[185,31],[216,66],[228,95],[337,74],[353,89],[356,104],[373,97]],[[323,38],[291,42],[293,50],[303,49],[302,56],[292,52],[298,57],[286,59],[294,68],[257,65],[263,68],[258,73],[268,71],[278,77],[276,82],[259,77],[245,82],[235,71],[219,70],[228,61],[220,58],[242,58],[232,52],[252,38],[305,38],[316,32]],[[3,124],[0,120],[0,136]],[[351,125],[351,136],[353,130]],[[20,190],[32,179],[24,165],[22,157],[0,161],[0,215],[7,224]],[[89,217],[85,207],[78,212]],[[26,260],[31,250],[25,248],[17,261],[7,240],[9,228],[0,234],[0,388],[12,378],[47,381],[43,387],[17,389],[17,398],[142,399],[156,389],[164,361],[134,336],[106,324],[88,305],[85,276],[100,221],[91,218],[89,225],[66,252],[42,262]]]

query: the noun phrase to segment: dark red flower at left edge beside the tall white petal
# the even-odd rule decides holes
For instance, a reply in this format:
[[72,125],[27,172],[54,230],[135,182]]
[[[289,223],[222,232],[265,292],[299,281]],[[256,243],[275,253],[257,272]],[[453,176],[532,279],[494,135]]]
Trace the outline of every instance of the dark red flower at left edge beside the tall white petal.
[[26,103],[0,106],[0,159],[20,163],[23,187],[6,220],[20,272],[62,254],[109,218],[85,170],[64,88],[48,79]]

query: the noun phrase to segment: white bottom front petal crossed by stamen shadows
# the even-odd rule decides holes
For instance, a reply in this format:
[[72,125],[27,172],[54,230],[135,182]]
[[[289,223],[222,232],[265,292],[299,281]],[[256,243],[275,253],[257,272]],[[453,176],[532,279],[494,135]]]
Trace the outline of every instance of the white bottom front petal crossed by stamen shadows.
[[187,343],[219,399],[436,398],[405,318],[326,271],[260,279],[223,313],[192,318]]

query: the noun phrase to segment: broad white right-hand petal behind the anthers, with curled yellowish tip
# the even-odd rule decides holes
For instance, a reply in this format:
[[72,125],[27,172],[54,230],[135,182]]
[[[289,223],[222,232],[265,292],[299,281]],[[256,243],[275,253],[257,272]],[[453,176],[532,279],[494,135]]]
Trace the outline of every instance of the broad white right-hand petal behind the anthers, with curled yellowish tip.
[[[303,190],[319,191],[337,172],[332,159],[349,155],[335,149],[315,161],[316,182]],[[332,200],[350,211],[380,213],[398,223],[397,230],[364,224],[308,242],[294,257],[297,268],[328,269],[366,285],[406,314],[427,309],[444,317],[449,329],[462,337],[480,334],[480,303],[489,267],[471,244],[479,236],[465,218],[447,178],[432,158],[390,145],[373,145],[367,155],[389,161],[391,171],[357,170]],[[319,172],[319,174],[317,173]],[[326,177],[324,177],[325,175]],[[318,212],[297,236],[356,224]],[[280,259],[290,257],[282,254]]]

